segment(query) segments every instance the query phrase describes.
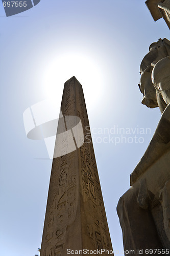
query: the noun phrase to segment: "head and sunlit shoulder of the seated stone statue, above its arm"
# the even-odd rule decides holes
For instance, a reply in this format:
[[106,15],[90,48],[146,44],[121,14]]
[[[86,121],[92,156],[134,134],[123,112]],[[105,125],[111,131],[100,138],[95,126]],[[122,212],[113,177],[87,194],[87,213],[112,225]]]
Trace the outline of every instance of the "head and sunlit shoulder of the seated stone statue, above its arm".
[[161,113],[170,102],[170,41],[153,42],[140,65],[142,104],[148,108],[159,106]]

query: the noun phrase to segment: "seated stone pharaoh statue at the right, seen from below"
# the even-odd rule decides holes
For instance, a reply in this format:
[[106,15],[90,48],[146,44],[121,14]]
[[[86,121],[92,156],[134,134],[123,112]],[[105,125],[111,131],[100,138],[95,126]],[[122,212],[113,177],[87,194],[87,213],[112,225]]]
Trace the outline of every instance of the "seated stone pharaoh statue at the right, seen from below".
[[131,174],[131,188],[119,199],[117,213],[125,251],[148,255],[148,250],[153,250],[155,255],[170,255],[169,40],[159,39],[151,44],[141,62],[140,74],[141,103],[148,108],[159,107],[161,118],[147,150]]

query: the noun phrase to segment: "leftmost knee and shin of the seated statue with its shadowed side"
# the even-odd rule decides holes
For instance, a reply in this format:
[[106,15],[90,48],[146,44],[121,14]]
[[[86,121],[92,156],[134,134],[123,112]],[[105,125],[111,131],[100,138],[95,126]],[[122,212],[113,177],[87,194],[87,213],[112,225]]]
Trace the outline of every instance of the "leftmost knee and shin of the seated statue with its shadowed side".
[[128,251],[125,255],[128,255],[130,250],[135,251],[134,255],[138,255],[138,250],[143,250],[142,255],[147,255],[145,249],[163,248],[151,211],[139,206],[139,193],[140,183],[138,182],[119,199],[117,205],[117,214],[123,231],[124,250]]

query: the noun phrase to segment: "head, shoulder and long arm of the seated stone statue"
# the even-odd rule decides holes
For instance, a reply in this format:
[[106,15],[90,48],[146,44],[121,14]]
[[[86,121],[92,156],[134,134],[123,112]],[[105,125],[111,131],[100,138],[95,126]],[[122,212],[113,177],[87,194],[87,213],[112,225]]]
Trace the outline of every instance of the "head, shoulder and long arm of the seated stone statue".
[[149,50],[140,65],[141,103],[148,108],[159,106],[162,116],[147,151],[131,174],[131,185],[167,150],[170,142],[170,41],[159,39]]

